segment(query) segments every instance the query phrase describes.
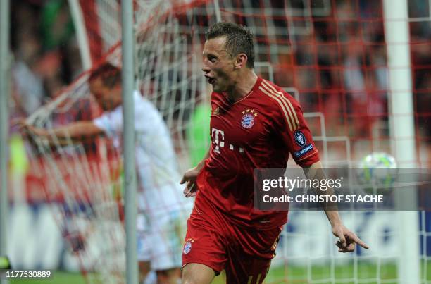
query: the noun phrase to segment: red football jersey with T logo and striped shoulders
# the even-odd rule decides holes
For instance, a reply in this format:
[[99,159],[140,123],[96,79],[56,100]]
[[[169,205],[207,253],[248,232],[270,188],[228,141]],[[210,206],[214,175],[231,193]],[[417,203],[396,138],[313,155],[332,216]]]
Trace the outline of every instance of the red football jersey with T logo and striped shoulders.
[[285,168],[289,153],[299,166],[319,161],[298,102],[258,78],[233,104],[226,94],[213,92],[211,109],[210,156],[197,178],[196,202],[208,199],[241,226],[269,229],[286,223],[286,212],[254,209],[254,169]]

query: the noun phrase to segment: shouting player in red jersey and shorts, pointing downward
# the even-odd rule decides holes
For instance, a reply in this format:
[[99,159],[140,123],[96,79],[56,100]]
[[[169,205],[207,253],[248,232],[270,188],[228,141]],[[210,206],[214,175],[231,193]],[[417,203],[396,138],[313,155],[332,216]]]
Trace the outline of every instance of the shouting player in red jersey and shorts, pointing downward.
[[[254,73],[254,36],[234,23],[206,32],[204,75],[211,94],[211,149],[181,183],[196,195],[182,252],[182,283],[262,283],[287,222],[284,211],[254,209],[254,169],[285,168],[289,153],[307,169],[322,168],[301,106],[280,87]],[[339,252],[355,244],[337,211],[325,211]]]

